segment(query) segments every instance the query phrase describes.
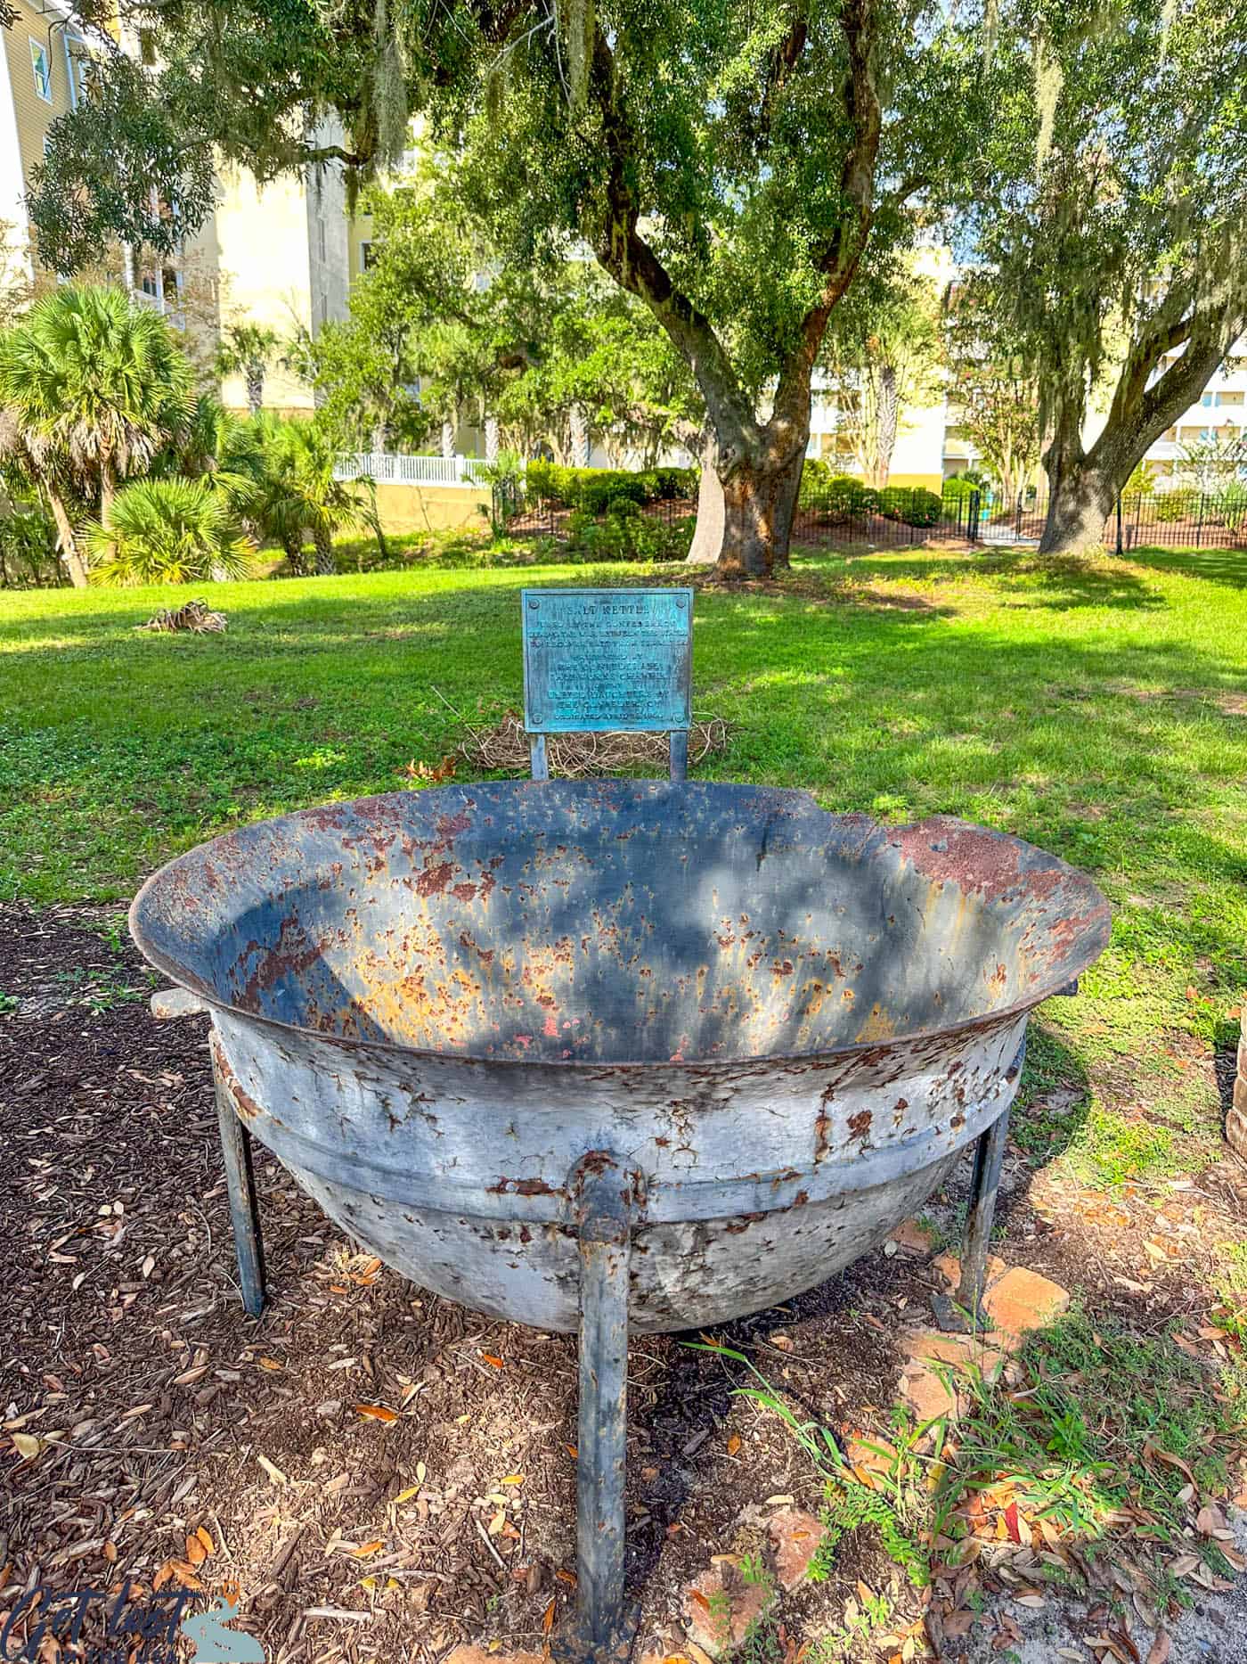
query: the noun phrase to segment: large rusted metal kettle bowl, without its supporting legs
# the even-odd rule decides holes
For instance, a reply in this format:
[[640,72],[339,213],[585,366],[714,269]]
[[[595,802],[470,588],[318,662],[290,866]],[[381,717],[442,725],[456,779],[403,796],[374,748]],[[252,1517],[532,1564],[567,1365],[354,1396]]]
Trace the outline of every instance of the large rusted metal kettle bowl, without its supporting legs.
[[243,1122],[426,1288],[574,1330],[570,1175],[622,1153],[653,1331],[810,1288],[918,1208],[1109,910],[959,820],[505,782],[233,832],[158,872],[131,929],[211,1007]]

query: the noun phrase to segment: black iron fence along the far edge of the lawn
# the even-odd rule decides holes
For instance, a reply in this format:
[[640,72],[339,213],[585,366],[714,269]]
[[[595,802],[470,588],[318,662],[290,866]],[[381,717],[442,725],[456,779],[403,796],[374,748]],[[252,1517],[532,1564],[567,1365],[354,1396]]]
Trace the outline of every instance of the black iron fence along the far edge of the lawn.
[[[793,518],[793,542],[825,549],[901,549],[929,541],[964,541],[981,547],[1036,546],[1047,519],[1047,499],[1023,494],[1004,503],[989,491],[929,491],[895,494],[885,513],[878,493],[858,498],[840,494],[831,501],[803,503]],[[495,499],[495,519],[514,537],[550,537],[557,544],[585,546],[585,554],[609,557],[605,527],[612,513],[587,516],[559,503],[525,504],[519,494]],[[697,503],[663,499],[632,508],[630,516],[663,536],[650,539],[645,556],[678,559],[687,552],[697,518]],[[595,532],[594,527],[599,531]],[[599,551],[589,547],[597,539]],[[627,537],[615,541],[627,544]],[[645,544],[643,529],[633,541]],[[1247,549],[1247,486],[1222,491],[1166,491],[1129,494],[1117,499],[1104,524],[1104,546],[1119,554],[1131,549]],[[627,557],[622,554],[620,557]]]

